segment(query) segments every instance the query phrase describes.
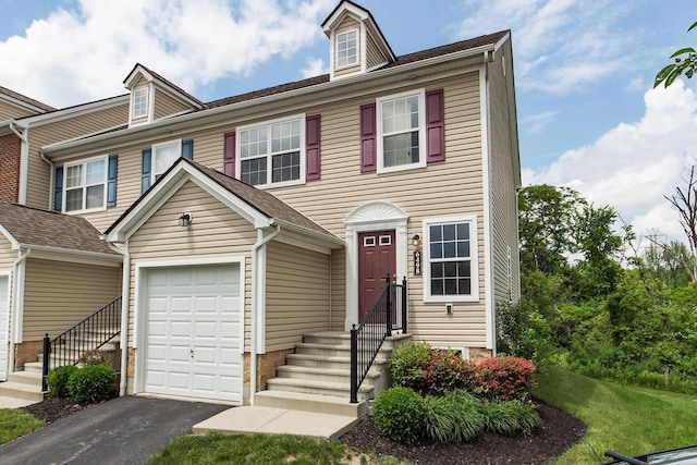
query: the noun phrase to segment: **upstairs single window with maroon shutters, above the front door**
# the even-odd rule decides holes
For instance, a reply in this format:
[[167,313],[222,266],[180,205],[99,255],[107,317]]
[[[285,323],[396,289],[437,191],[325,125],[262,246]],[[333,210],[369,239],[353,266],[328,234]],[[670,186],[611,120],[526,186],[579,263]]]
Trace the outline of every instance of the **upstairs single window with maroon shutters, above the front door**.
[[378,172],[426,167],[425,93],[377,100]]

